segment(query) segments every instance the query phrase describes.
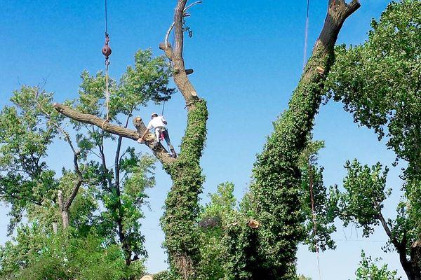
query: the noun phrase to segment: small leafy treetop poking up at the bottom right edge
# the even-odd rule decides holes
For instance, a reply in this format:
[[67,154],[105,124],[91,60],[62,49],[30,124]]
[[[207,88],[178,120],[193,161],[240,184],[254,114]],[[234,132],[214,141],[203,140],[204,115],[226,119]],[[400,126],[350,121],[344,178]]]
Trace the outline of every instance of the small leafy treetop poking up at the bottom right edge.
[[358,269],[356,269],[355,275],[356,280],[399,280],[401,277],[396,276],[397,272],[389,271],[387,265],[377,267],[376,262],[379,262],[381,258],[373,260],[371,257],[367,257],[364,251],[361,251],[361,261]]

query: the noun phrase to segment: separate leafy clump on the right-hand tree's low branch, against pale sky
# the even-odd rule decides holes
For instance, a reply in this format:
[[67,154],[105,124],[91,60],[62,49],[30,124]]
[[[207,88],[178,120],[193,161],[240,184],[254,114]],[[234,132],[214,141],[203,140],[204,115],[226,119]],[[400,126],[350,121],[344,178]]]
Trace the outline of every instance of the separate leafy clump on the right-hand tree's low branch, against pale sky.
[[363,227],[363,235],[368,237],[379,224],[378,218],[383,208],[382,202],[390,195],[386,189],[389,169],[382,171],[382,165],[362,166],[358,160],[345,164],[347,176],[344,179],[346,192],[341,195],[340,208],[345,226],[355,222]]

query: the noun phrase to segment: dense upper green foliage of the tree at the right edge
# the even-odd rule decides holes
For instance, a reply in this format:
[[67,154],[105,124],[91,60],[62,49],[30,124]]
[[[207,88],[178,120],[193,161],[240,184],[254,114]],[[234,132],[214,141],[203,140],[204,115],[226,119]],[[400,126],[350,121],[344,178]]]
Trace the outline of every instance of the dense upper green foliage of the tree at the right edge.
[[408,162],[406,195],[410,215],[419,217],[421,175],[421,3],[392,2],[373,20],[363,45],[337,48],[338,62],[328,78],[333,98],[361,125],[373,128],[397,159]]

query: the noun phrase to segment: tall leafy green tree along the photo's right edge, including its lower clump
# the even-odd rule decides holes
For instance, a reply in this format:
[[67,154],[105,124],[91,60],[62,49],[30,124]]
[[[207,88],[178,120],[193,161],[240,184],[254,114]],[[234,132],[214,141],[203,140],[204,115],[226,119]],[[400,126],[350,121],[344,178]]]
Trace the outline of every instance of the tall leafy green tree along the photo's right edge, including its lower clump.
[[[333,98],[345,104],[356,123],[387,139],[387,148],[396,153],[394,165],[399,161],[408,165],[401,175],[403,197],[394,220],[382,214],[386,174],[379,173],[378,165],[372,169],[359,162],[347,165],[343,206],[350,215],[345,221],[363,226],[366,235],[373,225],[382,225],[389,248],[399,253],[409,279],[421,279],[420,26],[420,1],[390,3],[380,21],[373,20],[368,41],[337,49],[337,63],[327,83]],[[356,204],[363,206],[361,211],[350,210]]]

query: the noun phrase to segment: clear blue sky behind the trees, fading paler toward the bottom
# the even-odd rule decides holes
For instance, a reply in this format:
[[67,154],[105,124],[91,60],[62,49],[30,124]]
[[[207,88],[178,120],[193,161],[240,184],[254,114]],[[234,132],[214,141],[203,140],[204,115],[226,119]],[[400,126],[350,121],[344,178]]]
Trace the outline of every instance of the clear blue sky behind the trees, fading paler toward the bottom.
[[[255,155],[262,150],[272,121],[286,109],[291,92],[300,78],[305,33],[305,0],[224,1],[204,0],[192,9],[188,18],[193,38],[186,38],[185,61],[195,73],[191,76],[197,92],[208,101],[210,117],[208,140],[202,159],[206,175],[203,203],[207,195],[224,181],[236,185],[241,198],[250,181]],[[370,21],[379,18],[387,0],[361,1],[362,7],[344,25],[338,43],[357,44],[367,38]],[[326,15],[327,0],[311,1],[309,51]],[[119,78],[139,48],[152,48],[161,55],[158,45],[171,24],[175,0],[109,0],[109,34],[113,54],[110,73]],[[83,69],[94,73],[103,66],[103,2],[4,0],[0,9],[0,106],[8,104],[13,90],[20,85],[36,85],[46,80],[46,90],[55,92],[62,102],[75,98]],[[180,94],[166,104],[165,116],[173,144],[178,145],[185,127],[184,102]],[[140,111],[147,118],[159,107]],[[391,167],[388,185],[394,188],[385,214],[393,217],[399,200],[399,168],[392,167],[394,154],[375,134],[353,123],[341,104],[330,102],[316,118],[314,138],[326,141],[320,164],[326,185],[341,185],[346,160],[358,158],[370,165],[380,161]],[[131,141],[125,140],[125,144]],[[136,146],[138,151],[148,151]],[[112,146],[108,151],[112,151]],[[58,169],[68,166],[70,151],[62,144],[51,147],[48,159]],[[165,269],[161,249],[163,234],[159,229],[163,200],[171,181],[156,172],[156,188],[149,191],[151,209],[145,209],[143,232],[147,240],[151,272]],[[0,208],[0,244],[8,239],[8,217]],[[321,253],[323,279],[353,279],[361,249],[382,257],[393,269],[399,269],[396,253],[383,253],[386,240],[382,230],[370,239],[361,238],[361,230],[342,230],[335,234],[338,248]],[[304,246],[298,253],[298,271],[318,279],[316,255]],[[404,278],[405,279],[405,278]]]

